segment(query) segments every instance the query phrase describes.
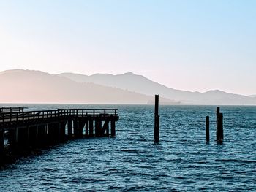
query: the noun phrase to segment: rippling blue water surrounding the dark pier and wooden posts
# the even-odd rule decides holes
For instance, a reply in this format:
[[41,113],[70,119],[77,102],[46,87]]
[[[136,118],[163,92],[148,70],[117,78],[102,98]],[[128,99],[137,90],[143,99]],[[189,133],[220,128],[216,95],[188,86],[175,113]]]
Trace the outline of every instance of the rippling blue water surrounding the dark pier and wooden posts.
[[[116,138],[78,139],[21,158],[0,171],[0,191],[256,191],[256,107],[221,107],[224,143],[215,139],[213,106],[26,105],[118,108]],[[205,117],[210,115],[210,143]]]

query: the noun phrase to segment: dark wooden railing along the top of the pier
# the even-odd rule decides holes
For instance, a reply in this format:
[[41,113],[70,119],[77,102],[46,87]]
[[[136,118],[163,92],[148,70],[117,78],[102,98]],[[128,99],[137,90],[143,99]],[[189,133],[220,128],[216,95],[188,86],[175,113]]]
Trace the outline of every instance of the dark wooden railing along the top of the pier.
[[0,126],[4,123],[20,123],[26,120],[47,120],[49,118],[72,117],[118,117],[117,109],[58,109],[41,111],[4,112],[0,111]]

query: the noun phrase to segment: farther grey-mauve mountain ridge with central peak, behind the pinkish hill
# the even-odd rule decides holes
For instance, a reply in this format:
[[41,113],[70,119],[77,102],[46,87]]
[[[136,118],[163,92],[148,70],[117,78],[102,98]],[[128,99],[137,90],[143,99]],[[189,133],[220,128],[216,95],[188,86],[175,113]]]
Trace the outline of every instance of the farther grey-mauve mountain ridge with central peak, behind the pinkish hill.
[[145,95],[159,94],[165,98],[180,101],[181,104],[256,104],[256,99],[224,91],[207,91],[206,93],[181,91],[168,88],[157,82],[151,81],[142,75],[125,74],[83,74],[62,73],[59,77],[67,77],[76,82],[93,82],[113,88],[121,88],[126,91],[134,91]]

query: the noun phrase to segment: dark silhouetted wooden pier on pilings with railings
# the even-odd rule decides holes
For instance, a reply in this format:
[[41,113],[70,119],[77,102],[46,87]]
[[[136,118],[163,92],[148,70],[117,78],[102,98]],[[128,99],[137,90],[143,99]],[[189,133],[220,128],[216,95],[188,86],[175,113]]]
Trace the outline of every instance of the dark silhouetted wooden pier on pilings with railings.
[[43,147],[83,137],[115,137],[117,109],[24,111],[0,107],[0,154],[5,141],[11,150]]

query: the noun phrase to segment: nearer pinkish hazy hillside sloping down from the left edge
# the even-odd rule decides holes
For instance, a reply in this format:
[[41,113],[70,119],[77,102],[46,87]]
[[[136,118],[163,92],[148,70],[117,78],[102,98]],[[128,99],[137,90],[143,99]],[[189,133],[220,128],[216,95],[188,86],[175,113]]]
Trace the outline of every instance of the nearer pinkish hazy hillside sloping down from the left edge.
[[[0,72],[0,88],[0,103],[147,104],[154,99],[119,88],[20,69]],[[172,102],[164,98],[160,101]]]

